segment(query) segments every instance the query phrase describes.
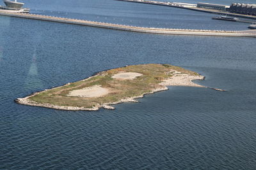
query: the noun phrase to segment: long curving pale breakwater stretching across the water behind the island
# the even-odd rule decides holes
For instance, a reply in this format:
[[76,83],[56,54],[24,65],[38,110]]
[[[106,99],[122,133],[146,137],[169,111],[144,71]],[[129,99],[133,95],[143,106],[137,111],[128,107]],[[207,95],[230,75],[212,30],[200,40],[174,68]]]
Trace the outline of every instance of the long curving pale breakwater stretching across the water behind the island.
[[256,38],[256,31],[212,31],[196,29],[167,29],[153,27],[136,27],[131,25],[111,24],[106,22],[95,22],[88,20],[77,20],[74,18],[52,17],[46,15],[36,15],[29,13],[7,13],[0,12],[0,15],[8,17],[28,18],[33,20],[44,20],[50,22],[60,22],[65,24],[85,25],[90,27],[100,27],[105,29],[115,29],[120,31],[143,32],[150,34],[176,34],[176,35],[193,35],[193,36],[242,36]]

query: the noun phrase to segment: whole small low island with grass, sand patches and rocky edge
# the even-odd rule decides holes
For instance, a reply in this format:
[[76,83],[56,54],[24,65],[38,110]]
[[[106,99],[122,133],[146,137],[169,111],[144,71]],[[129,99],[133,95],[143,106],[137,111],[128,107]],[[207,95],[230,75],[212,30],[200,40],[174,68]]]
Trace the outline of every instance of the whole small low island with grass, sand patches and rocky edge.
[[169,64],[125,66],[15,101],[58,110],[115,109],[109,105],[137,102],[135,99],[145,94],[168,90],[166,86],[204,87],[192,80],[204,80],[204,76]]

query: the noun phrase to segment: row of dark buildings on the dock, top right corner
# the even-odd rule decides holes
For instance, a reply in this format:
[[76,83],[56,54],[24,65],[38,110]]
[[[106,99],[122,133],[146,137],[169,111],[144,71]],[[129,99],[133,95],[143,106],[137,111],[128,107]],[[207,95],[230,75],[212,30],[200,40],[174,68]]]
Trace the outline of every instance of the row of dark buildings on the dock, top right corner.
[[232,13],[241,13],[256,16],[256,4],[232,3],[229,11]]

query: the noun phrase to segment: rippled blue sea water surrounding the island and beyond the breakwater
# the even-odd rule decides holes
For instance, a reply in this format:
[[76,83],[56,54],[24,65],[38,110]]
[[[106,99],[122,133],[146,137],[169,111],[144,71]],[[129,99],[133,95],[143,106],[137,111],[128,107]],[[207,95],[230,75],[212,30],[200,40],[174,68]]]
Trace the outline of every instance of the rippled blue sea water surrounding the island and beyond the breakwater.
[[[112,0],[28,0],[26,6],[120,24],[247,27],[213,21],[207,13]],[[256,168],[254,38],[141,34],[11,17],[0,17],[0,25],[0,169]],[[99,111],[13,101],[102,70],[147,63],[191,69],[205,76],[197,83],[227,92],[169,87],[140,103]]]

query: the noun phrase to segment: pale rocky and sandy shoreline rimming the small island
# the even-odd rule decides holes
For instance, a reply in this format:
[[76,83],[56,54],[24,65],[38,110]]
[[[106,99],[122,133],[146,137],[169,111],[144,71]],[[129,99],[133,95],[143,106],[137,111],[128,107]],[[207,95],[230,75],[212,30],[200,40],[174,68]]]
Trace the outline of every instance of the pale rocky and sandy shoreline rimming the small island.
[[[134,66],[147,66],[147,65],[148,64],[134,65]],[[154,66],[154,64],[151,64],[151,65]],[[167,65],[166,64],[156,64],[156,66],[162,66],[162,67],[167,66]],[[122,69],[122,68],[128,68],[128,67],[131,67],[131,66],[118,67],[118,68],[115,68],[115,69]],[[209,89],[218,90],[218,91],[225,91],[225,90],[221,90],[221,89],[205,87],[204,85],[199,85],[197,83],[194,83],[193,80],[205,80],[205,76],[202,76],[201,74],[195,73],[193,71],[188,71],[188,70],[183,69],[181,67],[179,67],[179,69],[178,69],[179,71],[177,71],[176,66],[168,65],[167,67],[175,67],[175,69],[170,68],[168,72],[164,72],[164,74],[172,74],[171,77],[164,76],[164,79],[161,79],[160,81],[158,81],[160,83],[157,83],[156,86],[154,86],[154,88],[151,88],[148,92],[141,92],[141,95],[139,95],[139,96],[132,96],[132,97],[131,96],[129,96],[129,97],[124,96],[124,98],[120,97],[120,99],[118,99],[118,101],[115,101],[115,102],[96,103],[96,104],[86,108],[86,107],[81,107],[81,106],[59,106],[58,104],[54,104],[54,103],[53,104],[52,103],[38,103],[36,101],[33,101],[33,100],[29,99],[30,97],[34,97],[34,96],[36,96],[40,93],[44,93],[44,92],[47,92],[49,90],[56,90],[56,89],[68,86],[68,85],[72,84],[72,82],[71,82],[71,83],[65,83],[64,85],[61,85],[59,87],[53,87],[52,89],[45,89],[45,90],[42,90],[42,91],[34,92],[34,93],[32,93],[32,94],[30,94],[29,96],[26,96],[26,97],[17,98],[17,99],[15,99],[15,103],[24,104],[24,105],[28,105],[28,106],[38,106],[38,107],[44,107],[44,108],[51,108],[51,109],[55,109],[55,110],[97,111],[100,108],[105,108],[105,109],[108,109],[108,110],[114,110],[115,107],[112,106],[113,104],[119,104],[119,103],[125,103],[125,102],[134,102],[134,103],[136,103],[136,102],[138,102],[136,99],[140,99],[140,98],[144,97],[146,94],[154,94],[156,92],[161,92],[161,91],[164,91],[164,90],[168,90],[168,87],[172,87],[172,86],[204,87],[204,88],[209,88]],[[108,74],[108,71],[115,70],[115,69],[100,71],[98,73],[94,73],[92,76],[90,76],[88,78],[84,78],[83,80],[75,81],[73,83],[82,82],[82,81],[86,82],[87,80],[90,80],[90,79],[95,78],[97,76],[103,76],[104,77]],[[180,69],[182,69],[185,72],[180,71]],[[131,73],[131,72],[119,71],[117,74],[120,74],[120,73],[124,73],[127,76],[127,73]],[[115,75],[112,76],[112,77],[114,78]],[[138,74],[136,76],[138,76]],[[67,94],[67,96],[68,96],[68,94]],[[88,97],[88,98],[96,99],[97,97]]]

